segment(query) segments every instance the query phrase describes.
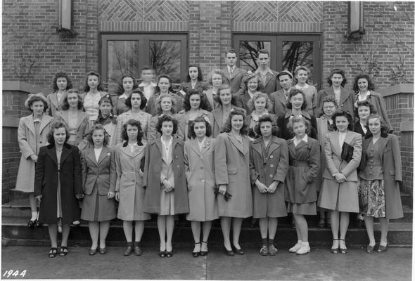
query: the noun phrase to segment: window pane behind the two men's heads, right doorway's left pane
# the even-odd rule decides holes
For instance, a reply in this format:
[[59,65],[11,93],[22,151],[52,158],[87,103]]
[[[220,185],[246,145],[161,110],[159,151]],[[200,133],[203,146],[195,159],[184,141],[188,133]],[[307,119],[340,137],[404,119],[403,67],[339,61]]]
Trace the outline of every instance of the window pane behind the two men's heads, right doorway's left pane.
[[267,49],[271,53],[270,41],[239,41],[239,66],[244,70],[255,71],[258,68],[258,51]]

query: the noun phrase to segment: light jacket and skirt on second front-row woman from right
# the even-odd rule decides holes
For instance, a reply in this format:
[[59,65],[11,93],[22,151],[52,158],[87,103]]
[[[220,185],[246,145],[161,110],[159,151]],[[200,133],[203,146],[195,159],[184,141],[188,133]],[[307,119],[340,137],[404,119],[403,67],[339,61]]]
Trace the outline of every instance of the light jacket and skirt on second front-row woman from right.
[[[342,159],[338,131],[328,133],[324,142],[326,153],[326,170],[323,173],[319,207],[347,212],[359,212],[357,195],[358,178],[357,168],[362,156],[362,136],[359,133],[347,131],[345,143],[353,147],[353,156],[350,162]],[[336,183],[333,174],[341,173],[346,179],[343,183]]]

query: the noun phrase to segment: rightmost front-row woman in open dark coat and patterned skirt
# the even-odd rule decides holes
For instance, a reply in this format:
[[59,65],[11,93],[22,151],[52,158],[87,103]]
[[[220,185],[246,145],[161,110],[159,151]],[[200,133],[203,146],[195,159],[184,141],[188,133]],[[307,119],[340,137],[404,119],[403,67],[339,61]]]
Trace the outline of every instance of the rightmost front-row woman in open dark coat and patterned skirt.
[[366,207],[362,209],[369,245],[368,253],[375,248],[373,218],[381,223],[381,243],[378,251],[388,249],[389,220],[402,218],[400,183],[402,183],[402,160],[397,136],[388,134],[388,125],[381,115],[373,114],[367,119],[369,132],[363,141],[362,161],[359,166],[359,192]]

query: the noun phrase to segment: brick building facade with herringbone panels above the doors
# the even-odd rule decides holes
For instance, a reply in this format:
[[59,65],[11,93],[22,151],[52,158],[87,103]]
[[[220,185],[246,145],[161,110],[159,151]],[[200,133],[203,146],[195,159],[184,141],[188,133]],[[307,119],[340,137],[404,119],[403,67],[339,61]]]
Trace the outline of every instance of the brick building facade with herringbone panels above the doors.
[[[108,79],[111,59],[108,42],[120,37],[134,37],[137,42],[151,36],[153,39],[148,40],[163,36],[183,38],[181,48],[185,53],[180,57],[178,74],[181,80],[186,77],[183,70],[189,64],[199,64],[204,74],[212,68],[224,67],[225,51],[230,47],[238,49],[238,42],[244,40],[271,42],[272,65],[281,71],[281,40],[312,38],[314,84],[319,88],[327,86],[326,78],[333,67],[345,70],[349,89],[352,77],[359,72],[371,73],[378,89],[412,84],[414,3],[362,3],[366,34],[361,39],[347,39],[347,1],[72,0],[72,31],[76,36],[64,38],[56,32],[58,1],[4,0],[3,79],[8,81],[8,92],[4,89],[3,115],[7,122],[3,124],[3,171],[5,166],[11,169],[17,162],[14,140],[24,98],[15,97],[13,91],[30,91],[29,84],[36,91],[49,93],[52,77],[60,71],[68,72],[74,87],[79,89],[83,88],[84,74],[90,70]],[[22,83],[26,86],[21,86]],[[20,85],[19,89],[13,85]],[[413,89],[402,95],[385,96],[397,132],[402,119],[413,122]],[[413,129],[402,136],[398,134],[402,145],[407,145],[402,156],[404,166],[409,167],[406,174],[409,187]],[[13,171],[7,177],[10,188]]]

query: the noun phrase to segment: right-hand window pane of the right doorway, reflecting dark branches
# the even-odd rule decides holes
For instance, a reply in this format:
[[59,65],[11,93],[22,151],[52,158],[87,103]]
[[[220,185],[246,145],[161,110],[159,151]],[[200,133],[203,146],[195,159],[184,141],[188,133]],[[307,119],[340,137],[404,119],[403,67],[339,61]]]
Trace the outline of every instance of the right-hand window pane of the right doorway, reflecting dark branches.
[[308,84],[314,85],[313,42],[283,41],[283,70],[294,74],[295,67],[303,65],[309,68]]

